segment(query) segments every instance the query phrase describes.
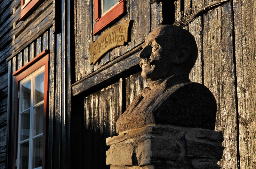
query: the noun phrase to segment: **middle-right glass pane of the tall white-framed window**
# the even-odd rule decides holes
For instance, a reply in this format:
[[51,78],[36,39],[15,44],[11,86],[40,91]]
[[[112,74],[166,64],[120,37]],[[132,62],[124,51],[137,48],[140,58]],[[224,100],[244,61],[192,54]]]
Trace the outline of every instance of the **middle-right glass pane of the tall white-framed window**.
[[33,136],[43,133],[43,126],[44,126],[44,104],[40,104],[39,106],[34,108]]

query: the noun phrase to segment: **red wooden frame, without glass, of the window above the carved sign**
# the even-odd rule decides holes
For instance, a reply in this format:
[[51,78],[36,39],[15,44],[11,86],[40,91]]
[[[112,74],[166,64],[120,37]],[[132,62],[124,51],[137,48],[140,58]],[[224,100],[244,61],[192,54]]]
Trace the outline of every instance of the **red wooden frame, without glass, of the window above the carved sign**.
[[97,35],[106,29],[109,25],[112,25],[116,20],[123,17],[126,12],[126,1],[118,0],[119,4],[117,4],[114,8],[108,11],[105,15],[101,17],[100,14],[100,3],[101,0],[94,1],[94,19],[96,24],[93,28],[93,35]]

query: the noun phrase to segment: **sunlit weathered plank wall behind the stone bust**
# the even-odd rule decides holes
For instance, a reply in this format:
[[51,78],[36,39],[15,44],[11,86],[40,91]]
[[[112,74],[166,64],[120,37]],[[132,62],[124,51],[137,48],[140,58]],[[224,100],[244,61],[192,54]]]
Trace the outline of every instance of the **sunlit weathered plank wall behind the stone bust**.
[[[90,109],[93,107],[90,105],[90,99],[93,102],[97,100],[94,96],[99,92],[109,95],[107,90],[90,94],[91,88],[96,91],[94,87],[99,84],[109,85],[109,81],[123,78],[123,94],[120,102],[123,102],[124,111],[133,98],[148,86],[148,82],[142,79],[140,73],[136,73],[140,71],[136,67],[140,60],[134,60],[129,66],[126,60],[129,58],[132,60],[134,53],[136,52],[137,55],[140,52],[140,44],[158,25],[174,23],[190,31],[198,45],[198,59],[190,73],[191,81],[207,86],[216,98],[218,106],[215,130],[223,131],[223,145],[226,147],[219,163],[221,168],[255,168],[256,2],[185,0],[184,11],[180,12],[179,1],[173,1],[173,6],[168,4],[169,9],[174,9],[174,12],[169,12],[168,15],[173,17],[173,22],[164,18],[166,2],[167,0],[159,2],[128,0],[127,14],[116,24],[122,23],[125,19],[134,20],[132,41],[127,46],[118,47],[107,53],[96,65],[90,65],[88,47],[92,40],[99,37],[99,35],[92,36],[95,25],[92,10],[94,4],[93,1],[76,0],[77,82],[73,85],[73,95],[89,94],[84,102],[85,118],[94,117],[90,116]],[[88,28],[89,32],[84,28]],[[135,51],[136,46],[138,47]],[[123,67],[125,70],[135,67],[136,71],[127,73],[125,70],[119,70]],[[105,78],[106,74],[108,76]]]

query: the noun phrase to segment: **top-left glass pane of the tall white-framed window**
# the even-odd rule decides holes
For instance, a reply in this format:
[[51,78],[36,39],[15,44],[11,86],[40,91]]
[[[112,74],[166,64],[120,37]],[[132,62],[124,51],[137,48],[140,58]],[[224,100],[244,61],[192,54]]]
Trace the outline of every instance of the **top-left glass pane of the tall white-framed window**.
[[31,81],[28,81],[21,86],[21,92],[22,92],[21,111],[24,111],[30,108]]

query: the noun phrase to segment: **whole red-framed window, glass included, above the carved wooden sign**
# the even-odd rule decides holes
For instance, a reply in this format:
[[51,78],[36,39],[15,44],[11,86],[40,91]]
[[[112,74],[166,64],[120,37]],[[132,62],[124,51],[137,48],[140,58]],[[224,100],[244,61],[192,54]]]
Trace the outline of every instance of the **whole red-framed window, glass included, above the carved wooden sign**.
[[93,35],[97,35],[126,14],[126,1],[95,0],[94,11],[96,24],[93,28]]

